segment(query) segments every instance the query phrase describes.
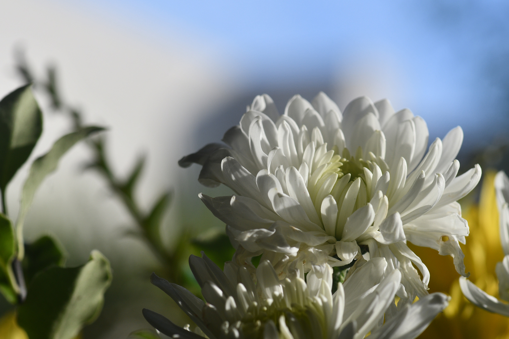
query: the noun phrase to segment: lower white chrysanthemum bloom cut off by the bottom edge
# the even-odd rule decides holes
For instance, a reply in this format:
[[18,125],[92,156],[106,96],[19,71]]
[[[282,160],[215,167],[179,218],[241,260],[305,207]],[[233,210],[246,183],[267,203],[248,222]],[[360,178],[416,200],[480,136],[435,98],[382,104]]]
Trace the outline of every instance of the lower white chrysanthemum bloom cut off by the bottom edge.
[[191,332],[189,325],[182,328],[143,311],[152,326],[174,338],[361,339],[371,331],[373,339],[411,339],[448,304],[447,296],[434,293],[391,315],[401,273],[395,269],[384,278],[383,258],[364,261],[334,294],[327,264],[313,266],[305,280],[302,268],[279,280],[268,261],[254,274],[233,262],[225,264],[223,272],[206,256],[191,256],[189,265],[206,302],[155,274],[151,280],[177,302],[196,329]]

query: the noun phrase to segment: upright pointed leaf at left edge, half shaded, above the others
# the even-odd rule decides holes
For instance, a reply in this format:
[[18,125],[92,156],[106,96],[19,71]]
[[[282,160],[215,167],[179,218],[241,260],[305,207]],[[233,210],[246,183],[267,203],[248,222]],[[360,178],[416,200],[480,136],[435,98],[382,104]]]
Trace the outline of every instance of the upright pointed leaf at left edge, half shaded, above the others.
[[0,101],[0,189],[5,191],[42,132],[42,113],[25,85]]

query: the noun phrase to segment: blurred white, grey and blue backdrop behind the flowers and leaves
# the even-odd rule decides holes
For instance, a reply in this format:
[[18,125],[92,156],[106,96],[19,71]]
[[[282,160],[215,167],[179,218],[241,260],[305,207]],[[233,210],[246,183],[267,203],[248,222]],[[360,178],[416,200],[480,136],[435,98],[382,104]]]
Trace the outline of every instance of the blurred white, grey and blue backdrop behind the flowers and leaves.
[[[199,166],[181,169],[177,161],[219,141],[262,93],[281,112],[294,94],[311,100],[320,90],[341,109],[361,95],[388,98],[395,109],[422,116],[430,140],[461,125],[464,171],[474,163],[507,168],[508,16],[509,3],[501,0],[4,1],[0,94],[23,83],[16,51],[24,51],[36,76],[54,66],[62,97],[87,123],[108,128],[106,155],[120,177],[146,156],[135,191],[140,207],[150,209],[173,190],[161,228],[172,249],[183,230],[186,239],[224,231],[197,194],[228,192],[200,186]],[[33,157],[72,128],[42,91],[36,94],[45,125]],[[86,261],[92,249],[111,261],[103,312],[83,338],[125,338],[149,327],[143,307],[184,324],[173,301],[149,282],[150,272],[172,268],[162,268],[147,243],[131,235],[133,221],[103,177],[83,170],[90,156],[86,145],[77,146],[45,181],[26,221],[27,240],[54,235],[68,266]],[[13,215],[26,171],[9,187]],[[184,257],[199,247],[186,247]],[[189,273],[185,259],[179,265]]]

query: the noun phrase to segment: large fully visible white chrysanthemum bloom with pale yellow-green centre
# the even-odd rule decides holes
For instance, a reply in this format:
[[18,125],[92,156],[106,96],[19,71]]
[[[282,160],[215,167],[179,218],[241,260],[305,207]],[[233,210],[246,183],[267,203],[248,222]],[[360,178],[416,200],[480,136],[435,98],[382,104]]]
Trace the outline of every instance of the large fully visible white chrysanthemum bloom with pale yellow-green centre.
[[225,133],[231,148],[209,144],[179,164],[199,163],[202,183],[236,192],[201,198],[234,245],[263,253],[281,277],[294,260],[306,270],[343,266],[369,250],[402,272],[398,296],[411,301],[427,294],[429,272],[407,240],[454,257],[466,275],[458,241],[469,231],[457,200],[481,175],[476,165],[456,176],[460,127],[426,153],[428,135],[421,117],[387,100],[361,97],[342,114],[324,93],[312,103],[297,95],[279,115],[263,95]]

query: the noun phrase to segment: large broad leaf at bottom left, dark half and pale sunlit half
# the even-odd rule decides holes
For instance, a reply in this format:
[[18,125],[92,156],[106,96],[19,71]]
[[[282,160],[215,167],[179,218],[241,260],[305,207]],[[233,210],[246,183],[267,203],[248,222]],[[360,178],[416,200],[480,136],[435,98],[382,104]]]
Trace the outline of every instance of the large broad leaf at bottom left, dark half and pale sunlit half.
[[79,267],[49,267],[32,280],[18,324],[30,339],[71,339],[99,316],[110,283],[109,262],[99,251]]

